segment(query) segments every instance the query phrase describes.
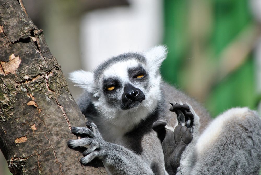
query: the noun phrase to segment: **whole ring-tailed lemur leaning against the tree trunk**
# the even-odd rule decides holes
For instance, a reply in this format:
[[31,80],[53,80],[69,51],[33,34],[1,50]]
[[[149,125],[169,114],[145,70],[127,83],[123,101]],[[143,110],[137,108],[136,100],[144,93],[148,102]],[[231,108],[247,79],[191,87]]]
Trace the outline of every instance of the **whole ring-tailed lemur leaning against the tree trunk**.
[[[87,128],[73,127],[73,134],[88,137],[69,140],[68,146],[90,145],[83,152],[81,163],[101,159],[110,174],[175,173],[172,167],[168,172],[165,170],[163,149],[166,144],[161,146],[162,140],[157,138],[152,125],[161,120],[168,124],[164,126],[165,134],[173,133],[171,128],[175,128],[178,121],[174,113],[168,111],[168,103],[182,101],[190,105],[193,115],[193,123],[188,120],[183,123],[191,126],[189,132],[193,138],[184,135],[182,128],[179,132],[175,130],[174,135],[184,135],[188,141],[174,140],[177,146],[170,149],[180,148],[183,142],[186,145],[181,146],[181,151],[185,150],[177,154],[180,157],[177,159],[165,152],[165,158],[170,157],[165,159],[165,164],[180,159],[180,165],[174,166],[177,174],[257,173],[261,122],[256,112],[235,108],[211,122],[200,104],[161,80],[159,67],[166,54],[166,47],[158,46],[145,53],[113,57],[93,72],[73,72],[71,80],[85,90],[78,104],[91,123],[87,123]],[[188,118],[184,111],[177,113],[179,118],[181,113]],[[182,123],[179,121],[179,124]],[[157,126],[154,125],[154,129],[157,130]],[[163,134],[160,139],[173,142],[172,137],[166,136]]]

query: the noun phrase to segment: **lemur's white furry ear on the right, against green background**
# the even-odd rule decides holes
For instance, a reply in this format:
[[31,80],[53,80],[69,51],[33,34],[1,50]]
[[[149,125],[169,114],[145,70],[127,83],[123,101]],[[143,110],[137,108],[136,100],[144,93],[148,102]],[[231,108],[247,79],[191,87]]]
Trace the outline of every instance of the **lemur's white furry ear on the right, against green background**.
[[166,46],[159,45],[151,48],[145,53],[147,63],[158,69],[167,57],[168,49]]

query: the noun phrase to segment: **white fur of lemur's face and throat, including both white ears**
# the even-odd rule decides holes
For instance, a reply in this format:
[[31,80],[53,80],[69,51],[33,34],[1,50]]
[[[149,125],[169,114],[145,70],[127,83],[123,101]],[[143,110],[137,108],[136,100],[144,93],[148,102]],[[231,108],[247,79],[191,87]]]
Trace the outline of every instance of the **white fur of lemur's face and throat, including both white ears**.
[[[124,133],[131,131],[142,119],[146,118],[151,113],[160,100],[161,76],[159,74],[159,66],[165,59],[167,49],[164,46],[158,46],[150,49],[145,55],[146,63],[133,58],[125,61],[117,62],[103,71],[100,77],[94,77],[92,72],[74,71],[70,79],[77,83],[78,86],[84,88],[86,92],[92,96],[93,104],[101,114],[94,122],[100,128],[100,132],[105,140],[118,142]],[[128,77],[128,68],[134,68],[141,65],[149,76],[149,84],[146,88],[139,83],[132,83]],[[97,69],[100,69],[98,66]],[[102,89],[103,78],[118,78],[121,84],[132,84],[139,88],[145,95],[145,100],[137,107],[128,110],[122,110],[119,105],[112,106],[107,102]],[[123,94],[123,88],[121,93]],[[117,97],[121,101],[121,95]]]

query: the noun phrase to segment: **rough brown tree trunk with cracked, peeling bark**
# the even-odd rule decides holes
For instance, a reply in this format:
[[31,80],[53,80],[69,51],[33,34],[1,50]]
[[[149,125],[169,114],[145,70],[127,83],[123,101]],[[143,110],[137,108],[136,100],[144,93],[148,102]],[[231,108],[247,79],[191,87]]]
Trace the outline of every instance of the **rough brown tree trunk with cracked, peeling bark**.
[[[66,36],[64,36],[66,37]],[[84,126],[61,67],[22,0],[0,1],[0,148],[13,174],[106,174],[67,147]]]

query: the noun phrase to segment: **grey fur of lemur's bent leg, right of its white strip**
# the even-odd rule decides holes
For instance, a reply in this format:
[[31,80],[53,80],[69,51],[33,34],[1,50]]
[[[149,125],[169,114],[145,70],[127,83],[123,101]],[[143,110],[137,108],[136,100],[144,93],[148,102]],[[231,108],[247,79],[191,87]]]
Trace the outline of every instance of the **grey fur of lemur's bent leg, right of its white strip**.
[[222,127],[211,147],[197,155],[190,174],[259,174],[260,117],[251,110],[242,114],[242,117],[226,117],[230,118],[229,122]]

